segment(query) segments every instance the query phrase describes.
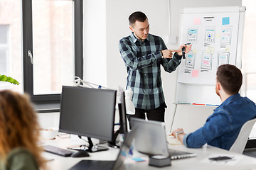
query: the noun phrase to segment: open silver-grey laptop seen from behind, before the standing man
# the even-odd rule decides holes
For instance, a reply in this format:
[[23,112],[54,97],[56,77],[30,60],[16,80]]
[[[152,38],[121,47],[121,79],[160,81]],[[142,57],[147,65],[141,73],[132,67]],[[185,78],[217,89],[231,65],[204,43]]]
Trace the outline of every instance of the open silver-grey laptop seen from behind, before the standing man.
[[166,140],[165,125],[162,122],[131,118],[132,128],[137,129],[135,148],[149,155],[164,155],[171,159],[196,157],[196,154],[169,149]]

